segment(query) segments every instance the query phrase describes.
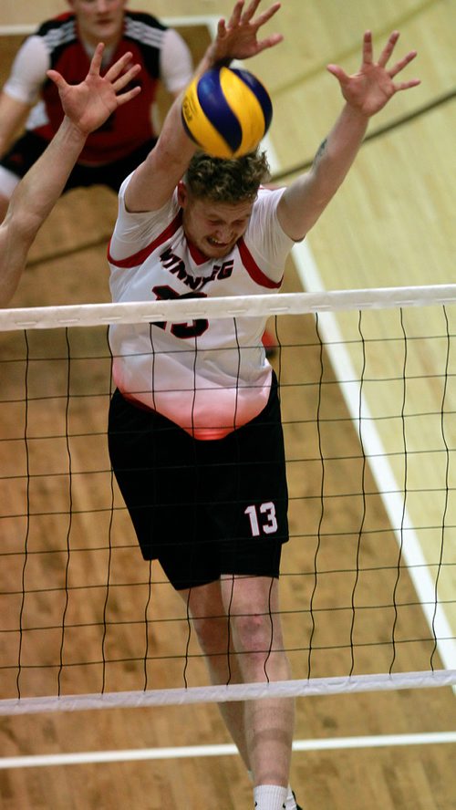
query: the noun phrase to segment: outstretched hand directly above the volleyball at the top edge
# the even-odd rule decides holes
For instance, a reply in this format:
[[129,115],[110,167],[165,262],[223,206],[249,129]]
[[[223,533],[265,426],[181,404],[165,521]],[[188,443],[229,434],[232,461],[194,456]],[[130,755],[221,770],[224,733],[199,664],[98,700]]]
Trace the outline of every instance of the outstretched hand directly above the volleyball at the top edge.
[[217,36],[212,43],[214,62],[255,57],[266,48],[274,47],[282,42],[284,37],[281,34],[272,34],[264,39],[258,39],[259,29],[269,22],[280,8],[280,3],[274,3],[255,17],[260,2],[261,0],[251,0],[244,11],[244,0],[237,0],[228,22],[224,19],[219,21]]

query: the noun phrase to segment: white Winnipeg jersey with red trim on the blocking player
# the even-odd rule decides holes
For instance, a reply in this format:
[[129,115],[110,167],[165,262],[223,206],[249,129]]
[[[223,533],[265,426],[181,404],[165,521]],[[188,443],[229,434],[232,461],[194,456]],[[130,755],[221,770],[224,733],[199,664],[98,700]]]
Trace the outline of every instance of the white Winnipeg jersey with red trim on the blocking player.
[[[276,292],[293,244],[277,221],[283,189],[260,190],[246,233],[223,259],[187,241],[177,192],[159,212],[119,218],[109,245],[116,302]],[[262,336],[266,317],[199,319],[191,324],[110,327],[114,381],[121,393],[159,411],[197,439],[220,439],[254,419],[267,402],[272,369]]]

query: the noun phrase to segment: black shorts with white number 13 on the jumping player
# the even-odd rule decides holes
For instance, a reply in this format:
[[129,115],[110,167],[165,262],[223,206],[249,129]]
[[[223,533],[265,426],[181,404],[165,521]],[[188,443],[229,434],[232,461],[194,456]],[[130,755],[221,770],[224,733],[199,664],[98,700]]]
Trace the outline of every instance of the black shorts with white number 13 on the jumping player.
[[215,441],[116,391],[109,454],[142,556],[160,560],[173,587],[279,576],[288,493],[276,381],[253,421]]

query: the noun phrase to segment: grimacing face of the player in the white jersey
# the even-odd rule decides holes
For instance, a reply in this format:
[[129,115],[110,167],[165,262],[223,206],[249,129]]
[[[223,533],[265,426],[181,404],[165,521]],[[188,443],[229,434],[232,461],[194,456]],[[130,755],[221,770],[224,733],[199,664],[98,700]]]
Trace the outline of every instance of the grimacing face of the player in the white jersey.
[[254,203],[213,203],[180,189],[185,234],[211,259],[229,254],[245,233]]

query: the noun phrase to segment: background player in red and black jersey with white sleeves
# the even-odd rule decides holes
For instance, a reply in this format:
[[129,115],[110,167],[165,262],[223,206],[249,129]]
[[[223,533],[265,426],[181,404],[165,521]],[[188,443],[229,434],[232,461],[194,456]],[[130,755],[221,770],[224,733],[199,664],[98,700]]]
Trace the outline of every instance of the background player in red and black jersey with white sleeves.
[[[101,184],[118,192],[120,182],[155,143],[152,109],[159,81],[175,97],[192,78],[189,48],[156,17],[127,10],[127,0],[67,2],[69,12],[47,20],[27,37],[0,95],[0,221],[17,182],[46,149],[62,119],[57,88],[47,79],[48,68],[57,70],[69,84],[78,84],[88,72],[98,42],[105,43],[104,71],[127,51],[141,67],[140,96],[129,109],[115,110],[90,133],[64,191]],[[26,133],[11,146],[25,120]]]

